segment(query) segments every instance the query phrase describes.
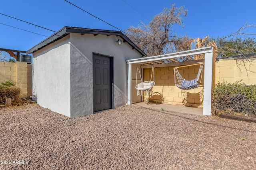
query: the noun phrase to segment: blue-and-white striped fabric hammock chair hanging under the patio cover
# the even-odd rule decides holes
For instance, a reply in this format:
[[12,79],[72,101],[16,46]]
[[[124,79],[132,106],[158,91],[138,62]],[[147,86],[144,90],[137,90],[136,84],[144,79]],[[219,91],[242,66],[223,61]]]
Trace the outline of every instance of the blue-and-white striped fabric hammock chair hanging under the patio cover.
[[[187,65],[187,66],[194,66],[194,65],[198,65],[198,64],[191,64],[191,65]],[[175,86],[177,86],[178,88],[180,88],[182,90],[191,90],[194,88],[198,88],[202,81],[202,70],[204,67],[204,63],[200,63],[200,67],[199,67],[197,76],[193,80],[184,79],[178,71],[178,68],[187,67],[187,66],[180,66],[180,67],[173,68],[174,69],[174,84],[175,84]],[[176,79],[178,80],[178,83],[176,83]]]

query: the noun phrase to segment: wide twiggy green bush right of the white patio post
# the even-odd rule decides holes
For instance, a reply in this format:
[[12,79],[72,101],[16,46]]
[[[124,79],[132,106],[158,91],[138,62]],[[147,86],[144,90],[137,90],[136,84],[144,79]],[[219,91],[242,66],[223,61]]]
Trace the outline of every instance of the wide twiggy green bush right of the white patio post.
[[216,84],[213,107],[226,113],[256,115],[256,85],[240,82]]

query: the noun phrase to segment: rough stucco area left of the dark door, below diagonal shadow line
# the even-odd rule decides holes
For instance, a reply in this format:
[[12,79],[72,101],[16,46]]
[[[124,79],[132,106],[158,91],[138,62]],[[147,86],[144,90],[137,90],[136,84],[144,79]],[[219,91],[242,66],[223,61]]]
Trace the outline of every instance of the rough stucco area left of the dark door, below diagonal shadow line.
[[[70,116],[93,113],[93,64],[74,44],[70,44]],[[89,59],[90,58],[90,59]]]

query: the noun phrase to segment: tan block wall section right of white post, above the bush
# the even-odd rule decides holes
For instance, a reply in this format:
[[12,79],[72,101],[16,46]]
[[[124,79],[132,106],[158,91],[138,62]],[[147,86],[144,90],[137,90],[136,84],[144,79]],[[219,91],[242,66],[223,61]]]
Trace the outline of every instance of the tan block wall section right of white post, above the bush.
[[[247,69],[247,71],[246,71]],[[215,82],[256,84],[256,59],[220,59],[216,61]]]

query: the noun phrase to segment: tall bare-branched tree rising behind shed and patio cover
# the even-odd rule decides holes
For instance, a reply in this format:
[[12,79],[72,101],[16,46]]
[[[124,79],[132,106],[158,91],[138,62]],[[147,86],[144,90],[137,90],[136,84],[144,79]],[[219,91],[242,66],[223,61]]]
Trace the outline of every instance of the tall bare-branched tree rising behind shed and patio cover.
[[162,55],[175,51],[191,49],[193,39],[188,36],[178,37],[173,25],[182,27],[187,16],[184,7],[177,8],[175,4],[164,8],[163,12],[154,16],[148,25],[141,23],[138,27],[130,27],[126,35],[138,45],[148,56]]

